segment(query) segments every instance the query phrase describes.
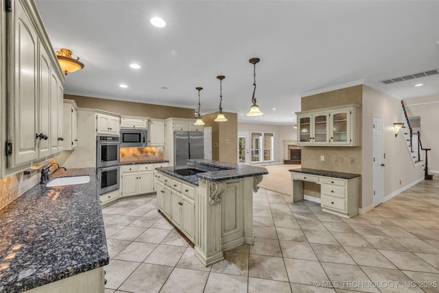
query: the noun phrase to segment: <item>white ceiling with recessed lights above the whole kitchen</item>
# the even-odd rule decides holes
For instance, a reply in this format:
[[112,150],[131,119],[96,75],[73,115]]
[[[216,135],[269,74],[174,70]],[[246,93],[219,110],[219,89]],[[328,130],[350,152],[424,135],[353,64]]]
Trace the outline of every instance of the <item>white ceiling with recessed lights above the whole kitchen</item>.
[[[55,50],[85,67],[65,93],[147,104],[219,106],[241,122],[295,124],[300,97],[368,84],[404,99],[439,93],[439,1],[36,0]],[[163,28],[150,19],[160,16]],[[247,117],[256,65],[261,117]],[[141,69],[131,69],[131,63]],[[424,86],[414,87],[423,83]],[[126,84],[122,89],[119,84]],[[274,110],[275,109],[275,110]]]

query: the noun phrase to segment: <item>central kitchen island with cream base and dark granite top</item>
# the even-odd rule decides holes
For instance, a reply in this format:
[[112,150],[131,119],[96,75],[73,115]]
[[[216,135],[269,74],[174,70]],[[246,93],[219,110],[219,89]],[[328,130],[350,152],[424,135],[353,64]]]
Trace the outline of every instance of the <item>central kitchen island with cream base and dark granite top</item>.
[[267,169],[191,159],[156,170],[157,208],[193,242],[204,266],[224,259],[224,251],[254,244],[253,191]]

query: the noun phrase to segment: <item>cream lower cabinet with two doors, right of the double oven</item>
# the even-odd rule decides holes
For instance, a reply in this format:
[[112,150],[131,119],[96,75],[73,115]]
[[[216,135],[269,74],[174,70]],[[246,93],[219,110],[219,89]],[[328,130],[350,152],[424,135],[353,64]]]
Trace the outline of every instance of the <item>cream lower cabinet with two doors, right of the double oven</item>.
[[154,191],[153,164],[121,166],[121,196],[137,196]]

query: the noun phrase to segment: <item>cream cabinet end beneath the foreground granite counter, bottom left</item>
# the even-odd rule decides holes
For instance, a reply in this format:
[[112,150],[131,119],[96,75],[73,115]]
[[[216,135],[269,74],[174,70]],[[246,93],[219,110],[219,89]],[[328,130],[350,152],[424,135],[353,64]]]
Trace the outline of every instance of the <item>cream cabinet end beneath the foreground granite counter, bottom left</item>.
[[72,277],[43,285],[29,293],[104,293],[104,268],[95,268]]

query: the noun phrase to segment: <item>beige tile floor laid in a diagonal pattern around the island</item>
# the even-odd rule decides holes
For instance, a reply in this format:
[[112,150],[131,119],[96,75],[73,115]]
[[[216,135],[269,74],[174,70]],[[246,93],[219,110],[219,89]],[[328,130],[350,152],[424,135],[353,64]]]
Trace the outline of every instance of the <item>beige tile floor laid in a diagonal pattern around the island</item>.
[[439,292],[438,178],[351,219],[259,189],[254,245],[208,268],[155,202],[136,198],[102,210],[106,293]]

